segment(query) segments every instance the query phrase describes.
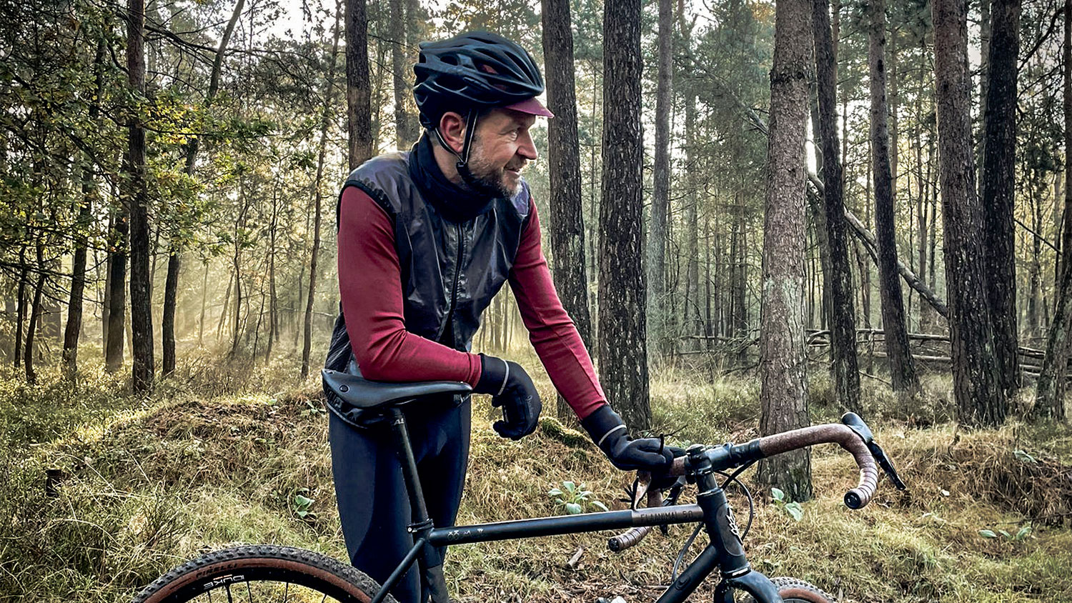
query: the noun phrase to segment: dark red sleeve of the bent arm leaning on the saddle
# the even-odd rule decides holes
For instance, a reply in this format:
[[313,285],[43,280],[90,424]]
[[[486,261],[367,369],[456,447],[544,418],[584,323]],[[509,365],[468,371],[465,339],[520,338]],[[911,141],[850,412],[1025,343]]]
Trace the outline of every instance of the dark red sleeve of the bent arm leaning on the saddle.
[[339,206],[339,293],[354,357],[376,381],[480,379],[480,357],[405,330],[402,277],[390,216],[360,189]]

